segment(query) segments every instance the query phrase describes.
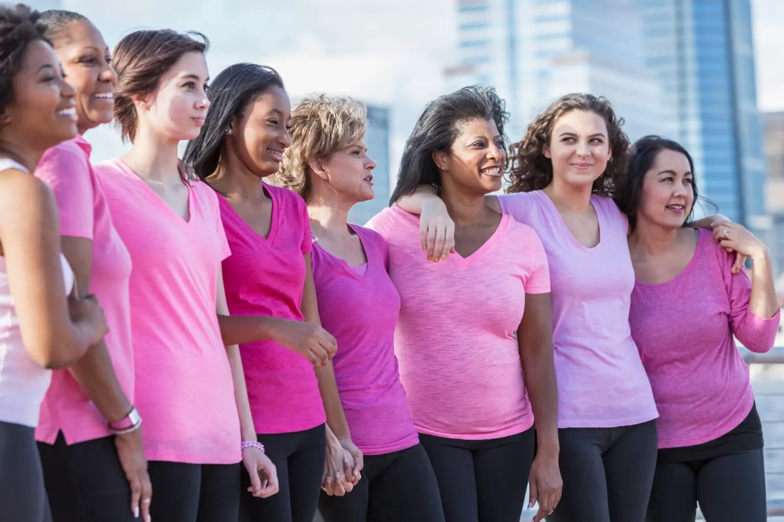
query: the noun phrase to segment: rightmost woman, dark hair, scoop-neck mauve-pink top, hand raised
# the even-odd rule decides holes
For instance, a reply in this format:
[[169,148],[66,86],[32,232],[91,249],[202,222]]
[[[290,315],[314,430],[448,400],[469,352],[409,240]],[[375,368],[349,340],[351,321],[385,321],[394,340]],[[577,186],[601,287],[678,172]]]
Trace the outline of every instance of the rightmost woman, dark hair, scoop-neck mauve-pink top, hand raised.
[[[767,520],[762,425],[735,339],[770,350],[779,329],[768,248],[741,225],[688,226],[694,162],[658,136],[637,141],[619,207],[629,216],[629,321],[659,409],[650,522]],[[750,257],[734,273],[728,249]]]

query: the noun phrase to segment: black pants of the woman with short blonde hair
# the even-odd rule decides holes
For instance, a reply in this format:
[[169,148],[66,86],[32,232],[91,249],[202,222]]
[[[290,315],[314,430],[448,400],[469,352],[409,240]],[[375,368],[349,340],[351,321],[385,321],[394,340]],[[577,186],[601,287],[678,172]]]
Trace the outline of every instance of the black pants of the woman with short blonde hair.
[[345,496],[321,491],[325,522],[444,522],[430,459],[416,445],[385,455],[365,455],[365,470]]

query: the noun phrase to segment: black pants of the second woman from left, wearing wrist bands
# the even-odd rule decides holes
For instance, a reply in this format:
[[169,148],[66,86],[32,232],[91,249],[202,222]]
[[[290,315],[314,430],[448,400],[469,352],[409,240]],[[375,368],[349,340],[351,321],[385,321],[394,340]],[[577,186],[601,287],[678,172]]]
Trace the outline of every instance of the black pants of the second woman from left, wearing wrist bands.
[[138,522],[114,437],[67,445],[38,443],[54,522]]

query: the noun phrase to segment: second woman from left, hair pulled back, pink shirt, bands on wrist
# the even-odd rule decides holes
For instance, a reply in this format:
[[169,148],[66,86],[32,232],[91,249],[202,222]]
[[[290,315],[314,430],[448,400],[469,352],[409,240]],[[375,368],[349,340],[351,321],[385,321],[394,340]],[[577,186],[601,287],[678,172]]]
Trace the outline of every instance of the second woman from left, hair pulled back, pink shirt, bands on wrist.
[[109,333],[69,369],[55,370],[36,430],[54,522],[131,522],[151,498],[140,419],[132,405],[128,285],[131,257],[109,215],[82,135],[114,118],[117,76],[100,31],[69,11],[42,13],[46,36],[76,88],[78,135],[46,151],[35,175],[52,189],[62,248],[82,295],[103,305]]

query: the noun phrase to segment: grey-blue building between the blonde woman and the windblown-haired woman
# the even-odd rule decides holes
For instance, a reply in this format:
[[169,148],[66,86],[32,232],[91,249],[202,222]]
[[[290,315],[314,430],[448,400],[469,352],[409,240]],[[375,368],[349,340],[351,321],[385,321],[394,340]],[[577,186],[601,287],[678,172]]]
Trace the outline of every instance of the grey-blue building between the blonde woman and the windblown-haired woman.
[[376,197],[354,205],[348,221],[365,225],[370,218],[389,206],[390,185],[390,110],[386,107],[368,105],[368,134],[365,136],[368,156],[376,162],[373,169],[373,190]]

